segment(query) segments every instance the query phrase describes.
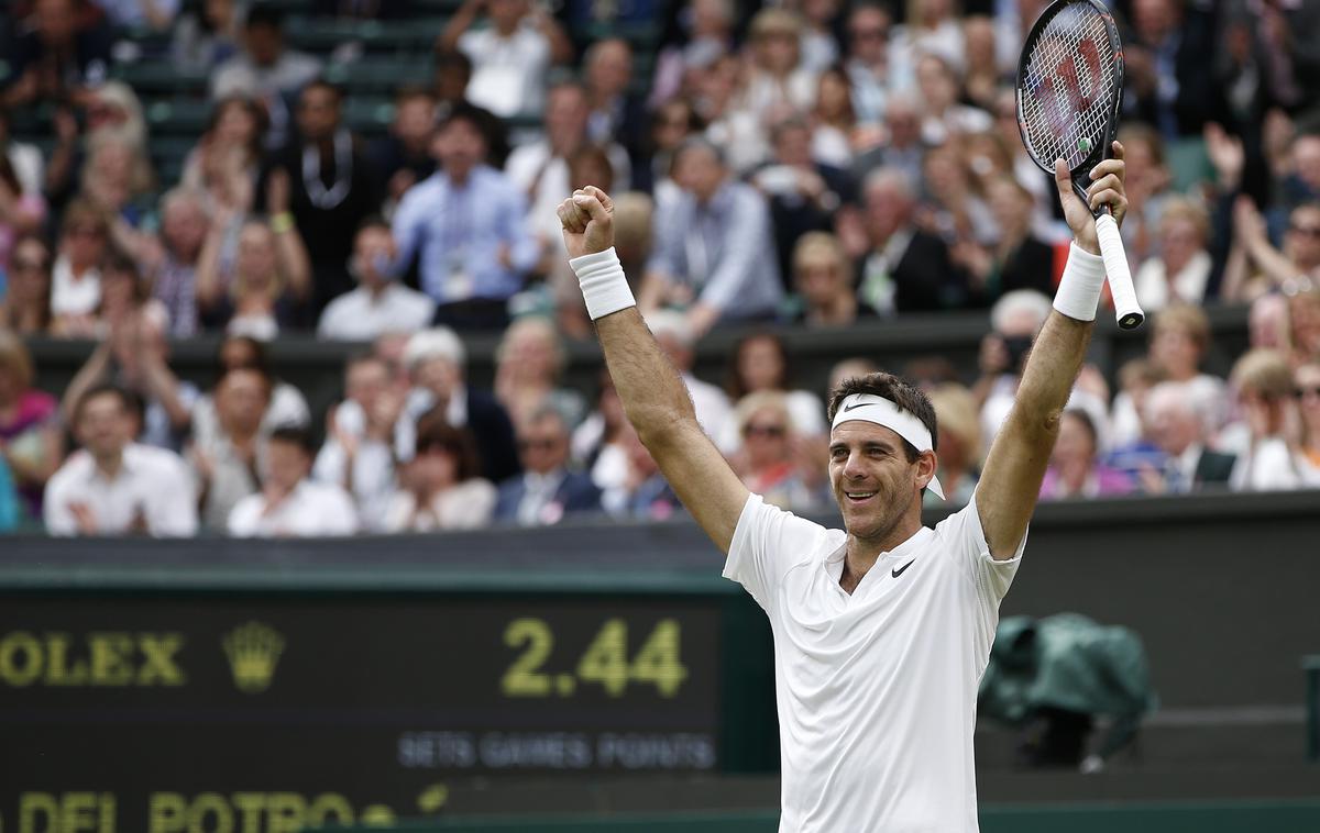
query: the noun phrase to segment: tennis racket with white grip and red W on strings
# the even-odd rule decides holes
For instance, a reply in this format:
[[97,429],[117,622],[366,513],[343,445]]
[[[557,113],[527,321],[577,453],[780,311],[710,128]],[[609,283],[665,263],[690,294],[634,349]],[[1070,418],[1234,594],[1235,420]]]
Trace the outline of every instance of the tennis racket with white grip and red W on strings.
[[[1041,170],[1053,174],[1055,159],[1068,163],[1084,204],[1089,206],[1080,182],[1089,183],[1092,169],[1109,156],[1122,96],[1123,45],[1113,16],[1098,0],[1051,3],[1018,61],[1018,128]],[[1135,330],[1146,314],[1137,303],[1118,223],[1109,206],[1094,215],[1118,326]]]

